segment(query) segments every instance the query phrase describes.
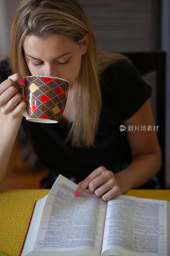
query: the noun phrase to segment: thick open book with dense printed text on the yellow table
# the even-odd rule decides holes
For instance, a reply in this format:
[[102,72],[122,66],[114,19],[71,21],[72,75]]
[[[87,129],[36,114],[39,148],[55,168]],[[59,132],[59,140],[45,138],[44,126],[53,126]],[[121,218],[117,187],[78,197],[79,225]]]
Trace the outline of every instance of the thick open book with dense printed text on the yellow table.
[[34,205],[20,256],[169,256],[170,202],[134,196],[108,201],[59,174]]

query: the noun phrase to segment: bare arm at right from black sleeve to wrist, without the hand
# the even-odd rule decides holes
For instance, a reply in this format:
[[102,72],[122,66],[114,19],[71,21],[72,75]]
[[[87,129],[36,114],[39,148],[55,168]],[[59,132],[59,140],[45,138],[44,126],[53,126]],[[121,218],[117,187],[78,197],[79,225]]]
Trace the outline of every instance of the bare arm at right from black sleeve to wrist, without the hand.
[[115,174],[121,186],[126,190],[137,188],[147,182],[162,165],[161,149],[156,131],[127,131],[128,125],[155,125],[150,100],[129,119],[123,121],[132,154],[131,164]]

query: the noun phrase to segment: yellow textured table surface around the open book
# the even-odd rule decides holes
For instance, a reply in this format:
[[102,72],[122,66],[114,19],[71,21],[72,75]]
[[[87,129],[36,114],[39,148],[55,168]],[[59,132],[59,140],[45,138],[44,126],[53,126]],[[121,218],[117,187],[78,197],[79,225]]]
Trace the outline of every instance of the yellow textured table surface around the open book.
[[[18,256],[36,200],[50,189],[0,190],[0,252]],[[170,190],[131,189],[123,195],[170,201]]]

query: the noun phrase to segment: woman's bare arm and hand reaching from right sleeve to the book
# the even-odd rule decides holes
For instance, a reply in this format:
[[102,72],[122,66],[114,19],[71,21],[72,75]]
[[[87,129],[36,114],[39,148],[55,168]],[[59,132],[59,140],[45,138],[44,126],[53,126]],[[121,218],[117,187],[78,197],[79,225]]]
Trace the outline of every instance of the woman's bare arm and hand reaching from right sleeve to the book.
[[[155,125],[150,100],[146,100],[142,107],[123,123],[126,127]],[[131,188],[139,187],[159,171],[161,149],[156,131],[129,132],[126,130],[126,135],[132,154],[131,164],[115,175],[104,166],[100,166],[78,184],[77,194],[80,195],[85,188],[89,187],[91,193],[102,196],[103,200],[109,200]]]

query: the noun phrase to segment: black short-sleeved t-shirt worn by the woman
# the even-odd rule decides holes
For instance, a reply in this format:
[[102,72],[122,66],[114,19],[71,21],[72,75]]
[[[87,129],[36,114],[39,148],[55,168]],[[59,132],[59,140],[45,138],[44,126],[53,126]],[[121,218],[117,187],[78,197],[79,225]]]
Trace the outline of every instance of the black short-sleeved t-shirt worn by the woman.
[[[11,71],[6,60],[0,62],[0,83]],[[114,172],[118,163],[131,161],[126,134],[120,131],[122,121],[132,116],[150,98],[152,87],[139,71],[122,60],[111,64],[100,74],[102,108],[95,147],[76,148],[70,141],[64,145],[70,124],[43,124],[27,121],[21,125],[40,161],[52,172],[84,180],[100,166]]]

